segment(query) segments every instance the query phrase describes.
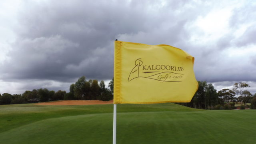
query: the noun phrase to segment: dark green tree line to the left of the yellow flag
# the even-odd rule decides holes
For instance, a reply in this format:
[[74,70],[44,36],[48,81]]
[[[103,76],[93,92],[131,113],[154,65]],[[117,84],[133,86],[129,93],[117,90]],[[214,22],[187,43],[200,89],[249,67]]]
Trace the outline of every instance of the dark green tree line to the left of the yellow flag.
[[26,90],[23,94],[0,94],[0,104],[25,104],[34,102],[48,102],[54,100],[103,100],[113,99],[114,79],[108,84],[109,88],[103,80],[88,80],[85,76],[80,77],[77,82],[70,85],[69,91],[48,90],[47,88]]

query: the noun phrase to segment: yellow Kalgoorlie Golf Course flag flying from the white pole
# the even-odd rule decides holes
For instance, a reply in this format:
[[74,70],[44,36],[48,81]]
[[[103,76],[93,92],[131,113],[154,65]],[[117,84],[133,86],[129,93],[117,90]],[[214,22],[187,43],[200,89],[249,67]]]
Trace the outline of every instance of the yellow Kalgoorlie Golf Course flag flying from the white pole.
[[194,57],[169,45],[115,41],[114,104],[190,102]]

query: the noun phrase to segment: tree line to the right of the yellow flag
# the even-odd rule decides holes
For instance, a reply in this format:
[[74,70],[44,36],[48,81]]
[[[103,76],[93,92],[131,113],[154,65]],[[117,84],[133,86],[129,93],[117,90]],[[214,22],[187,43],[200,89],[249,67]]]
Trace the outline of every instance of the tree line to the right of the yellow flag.
[[178,104],[200,109],[235,109],[237,103],[248,107],[247,104],[251,102],[251,108],[256,109],[256,94],[252,96],[248,90],[245,90],[248,87],[249,84],[239,82],[233,85],[232,90],[224,88],[217,92],[212,84],[198,81],[198,90],[191,102]]

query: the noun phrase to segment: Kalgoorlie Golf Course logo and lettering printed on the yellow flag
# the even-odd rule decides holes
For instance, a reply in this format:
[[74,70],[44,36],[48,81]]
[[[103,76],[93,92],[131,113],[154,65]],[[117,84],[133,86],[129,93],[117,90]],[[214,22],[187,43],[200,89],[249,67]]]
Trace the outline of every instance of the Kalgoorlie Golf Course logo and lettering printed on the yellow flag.
[[141,58],[135,60],[135,66],[132,68],[128,82],[135,78],[148,78],[162,82],[182,82],[185,75],[182,74],[185,68],[172,65],[150,65],[144,64]]

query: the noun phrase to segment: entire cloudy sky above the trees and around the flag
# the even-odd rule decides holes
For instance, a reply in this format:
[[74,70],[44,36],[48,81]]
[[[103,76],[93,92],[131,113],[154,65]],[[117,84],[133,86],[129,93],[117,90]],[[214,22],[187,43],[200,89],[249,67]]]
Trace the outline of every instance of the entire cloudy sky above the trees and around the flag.
[[1,0],[0,93],[107,85],[116,39],[180,48],[197,80],[256,93],[255,0]]

